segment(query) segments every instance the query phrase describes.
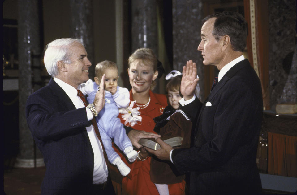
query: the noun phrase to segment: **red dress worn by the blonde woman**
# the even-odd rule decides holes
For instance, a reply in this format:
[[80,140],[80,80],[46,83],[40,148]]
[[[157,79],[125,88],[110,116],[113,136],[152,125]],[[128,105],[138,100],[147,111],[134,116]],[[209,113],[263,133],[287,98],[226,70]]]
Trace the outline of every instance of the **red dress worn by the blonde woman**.
[[[140,125],[136,124],[132,128],[136,130],[144,130],[146,132],[152,132],[155,127],[155,122],[153,118],[160,116],[163,112],[164,108],[167,106],[166,96],[163,94],[153,93],[151,90],[149,91],[149,95],[151,97],[151,101],[149,106],[140,109],[140,116],[142,117],[142,123]],[[130,100],[133,101],[132,91],[130,91]],[[134,107],[137,107],[134,105]],[[124,120],[122,120],[121,114],[119,115],[122,123],[124,124]],[[121,151],[115,148],[115,151],[119,153],[122,160],[128,165],[131,169],[131,172],[122,179],[122,193],[123,195],[156,195],[159,194],[155,184],[151,181],[149,170],[150,170],[150,162],[151,157],[148,159],[141,161],[136,160],[133,163],[129,163],[125,157],[123,157]],[[169,193],[170,195],[175,194],[185,194],[185,181],[176,184],[170,184]]]

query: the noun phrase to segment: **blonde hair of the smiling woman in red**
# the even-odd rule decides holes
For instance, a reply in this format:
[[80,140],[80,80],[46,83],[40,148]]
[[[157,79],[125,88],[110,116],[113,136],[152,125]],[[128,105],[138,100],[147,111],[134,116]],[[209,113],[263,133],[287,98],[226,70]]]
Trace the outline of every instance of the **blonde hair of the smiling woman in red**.
[[[128,68],[130,68],[131,63],[139,61],[145,66],[152,66],[154,72],[157,71],[158,60],[152,49],[149,48],[139,48],[130,55],[128,59]],[[152,81],[150,89],[153,90],[157,85],[156,81]]]

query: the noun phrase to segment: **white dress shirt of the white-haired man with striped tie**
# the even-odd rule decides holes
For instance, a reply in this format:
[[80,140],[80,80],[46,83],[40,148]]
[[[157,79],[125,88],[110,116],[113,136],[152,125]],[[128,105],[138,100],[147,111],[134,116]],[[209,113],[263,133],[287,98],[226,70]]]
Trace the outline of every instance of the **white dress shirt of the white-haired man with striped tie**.
[[[69,96],[70,100],[75,105],[75,108],[78,109],[78,108],[85,107],[83,100],[81,100],[80,97],[77,95],[77,89],[63,82],[60,79],[54,78],[54,81]],[[90,109],[86,108],[86,112],[87,112],[88,120],[92,120],[93,114],[90,111]],[[88,136],[89,136],[89,139],[93,148],[93,153],[94,153],[93,184],[103,184],[105,181],[107,181],[107,177],[108,177],[108,169],[107,169],[106,162],[104,160],[103,149],[100,141],[98,140],[98,137],[96,136],[93,125],[86,127],[86,130],[88,132]]]

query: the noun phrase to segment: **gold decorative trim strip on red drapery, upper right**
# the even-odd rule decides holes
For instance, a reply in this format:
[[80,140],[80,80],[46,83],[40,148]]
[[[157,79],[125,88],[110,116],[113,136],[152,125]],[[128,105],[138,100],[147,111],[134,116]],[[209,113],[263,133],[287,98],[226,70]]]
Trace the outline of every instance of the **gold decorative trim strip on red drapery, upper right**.
[[251,16],[251,38],[252,38],[252,55],[253,55],[253,65],[254,70],[259,76],[258,69],[258,58],[257,58],[257,45],[256,45],[256,17],[255,17],[255,1],[250,0],[250,16]]

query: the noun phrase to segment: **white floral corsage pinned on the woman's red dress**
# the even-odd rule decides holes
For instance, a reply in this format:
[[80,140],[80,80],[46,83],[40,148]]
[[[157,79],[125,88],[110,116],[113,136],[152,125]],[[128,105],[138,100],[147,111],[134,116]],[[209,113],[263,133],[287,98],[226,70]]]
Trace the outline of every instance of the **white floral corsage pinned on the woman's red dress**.
[[118,109],[118,112],[123,114],[122,118],[125,119],[124,125],[133,127],[135,124],[137,124],[137,121],[142,121],[142,117],[139,116],[140,112],[138,111],[140,107],[133,108],[135,104],[135,101],[132,101],[130,106],[127,108],[120,108]]

